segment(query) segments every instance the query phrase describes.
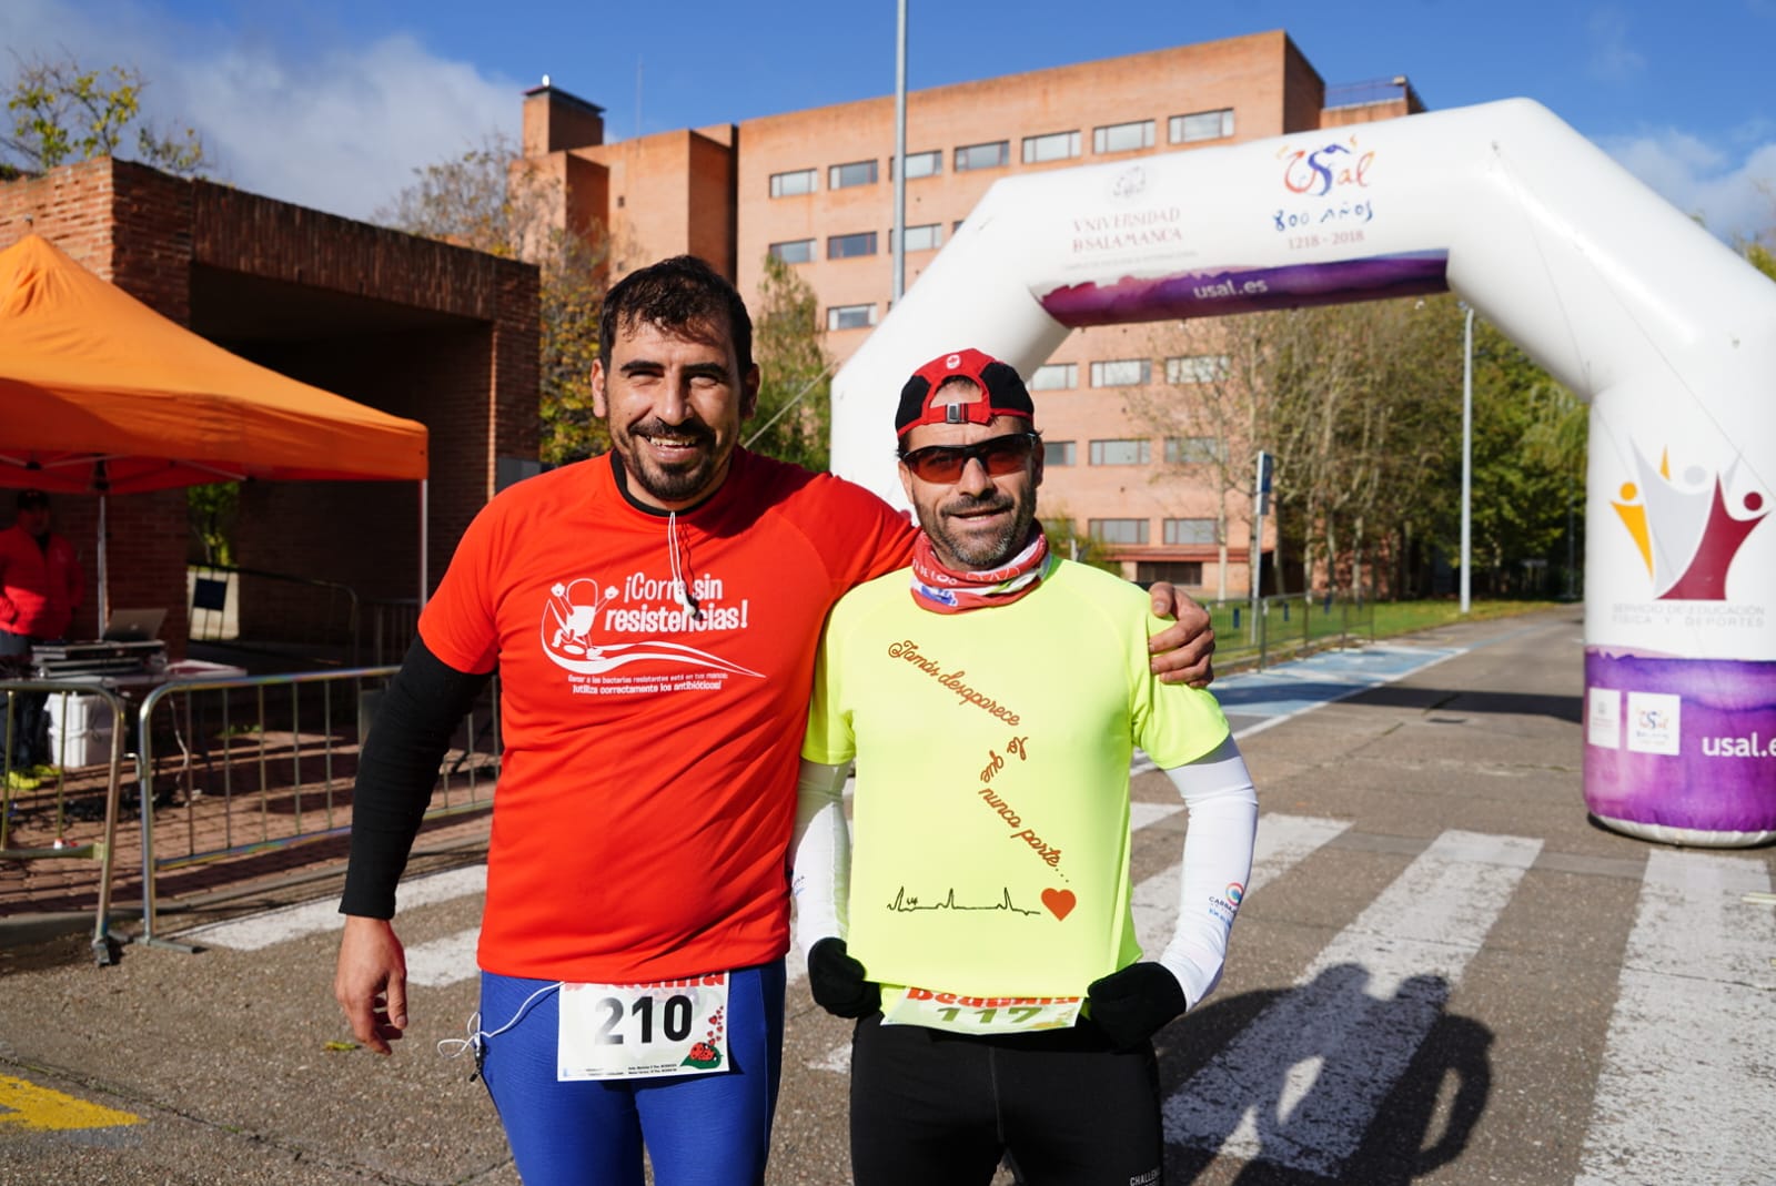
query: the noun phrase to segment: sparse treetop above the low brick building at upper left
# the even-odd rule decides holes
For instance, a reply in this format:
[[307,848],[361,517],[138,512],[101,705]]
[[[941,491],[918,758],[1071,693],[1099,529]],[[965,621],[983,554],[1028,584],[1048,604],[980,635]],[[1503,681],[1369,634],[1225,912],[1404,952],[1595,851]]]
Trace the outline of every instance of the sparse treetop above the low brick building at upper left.
[[41,174],[94,156],[124,156],[178,176],[202,176],[213,165],[194,128],[160,131],[142,114],[147,82],[128,66],[85,69],[75,59],[12,55],[7,87],[11,130],[0,135],[0,172]]

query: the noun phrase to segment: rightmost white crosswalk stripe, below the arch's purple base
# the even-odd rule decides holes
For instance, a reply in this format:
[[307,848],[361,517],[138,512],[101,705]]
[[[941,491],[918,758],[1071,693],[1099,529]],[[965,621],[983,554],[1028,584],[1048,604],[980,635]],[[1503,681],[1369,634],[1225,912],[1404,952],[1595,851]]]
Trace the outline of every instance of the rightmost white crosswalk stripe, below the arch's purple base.
[[1756,858],[1648,852],[1575,1186],[1776,1174],[1776,916],[1742,900],[1769,888]]

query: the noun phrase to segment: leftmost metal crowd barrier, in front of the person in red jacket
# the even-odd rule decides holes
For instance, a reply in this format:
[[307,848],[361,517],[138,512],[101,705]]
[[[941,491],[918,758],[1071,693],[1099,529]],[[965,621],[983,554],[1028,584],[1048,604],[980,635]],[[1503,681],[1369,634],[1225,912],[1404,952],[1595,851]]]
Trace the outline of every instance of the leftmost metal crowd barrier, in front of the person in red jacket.
[[[119,803],[123,799],[123,756],[124,740],[128,737],[126,724],[130,714],[124,707],[123,698],[105,687],[96,687],[92,684],[83,684],[78,680],[0,680],[0,692],[4,692],[4,705],[0,705],[0,859],[5,861],[99,861],[99,897],[98,911],[92,923],[92,957],[103,966],[112,964],[117,953],[110,939],[110,888],[112,888],[112,868],[117,858],[117,813]],[[44,790],[43,783],[28,790],[12,788],[12,755],[16,753],[12,731],[16,728],[14,712],[16,700],[21,694],[44,694],[59,698],[59,719],[62,728],[57,730],[57,746],[52,753],[57,772],[50,776],[48,783],[53,788]],[[110,744],[108,758],[105,762],[105,824],[99,831],[98,840],[87,840],[85,843],[75,843],[67,838],[69,822],[69,799],[67,799],[67,771],[71,765],[87,765],[71,762],[69,755],[69,733],[67,723],[76,712],[85,712],[85,698],[92,698],[110,712]],[[91,728],[91,723],[83,723]],[[91,733],[98,735],[101,730],[91,728]],[[82,735],[85,730],[82,730]],[[25,810],[36,811],[52,808],[53,810],[53,836],[48,845],[32,847],[12,847],[14,833],[14,813],[23,813],[20,803],[28,803]]]

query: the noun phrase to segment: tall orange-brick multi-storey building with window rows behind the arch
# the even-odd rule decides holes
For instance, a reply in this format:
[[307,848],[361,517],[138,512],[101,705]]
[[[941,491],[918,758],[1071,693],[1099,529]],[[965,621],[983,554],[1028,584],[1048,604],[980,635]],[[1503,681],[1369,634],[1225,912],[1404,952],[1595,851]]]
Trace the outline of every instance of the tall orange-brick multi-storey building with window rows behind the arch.
[[[1007,174],[1423,110],[1405,78],[1328,89],[1284,32],[932,87],[906,107],[908,286]],[[524,99],[526,156],[559,181],[561,218],[609,236],[618,275],[689,250],[751,296],[776,254],[819,293],[838,362],[888,309],[893,144],[892,96],[618,144],[584,99],[549,85]],[[1126,405],[1128,387],[1186,383],[1204,362],[1160,353],[1153,327],[1062,343],[1027,376],[1048,440],[1043,508],[1101,540],[1128,577],[1241,595],[1250,527],[1220,540],[1217,495],[1177,463],[1204,442],[1156,437]]]

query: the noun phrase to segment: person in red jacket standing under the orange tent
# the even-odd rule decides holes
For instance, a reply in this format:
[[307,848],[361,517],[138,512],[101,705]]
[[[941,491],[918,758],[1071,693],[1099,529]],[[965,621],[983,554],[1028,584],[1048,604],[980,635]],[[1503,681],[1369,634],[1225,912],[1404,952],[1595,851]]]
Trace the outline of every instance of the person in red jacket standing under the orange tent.
[[[30,659],[36,643],[59,641],[80,609],[85,573],[75,547],[50,531],[50,497],[20,490],[18,522],[0,531],[0,662]],[[12,692],[5,730],[5,781],[30,790],[50,765],[48,692]]]

